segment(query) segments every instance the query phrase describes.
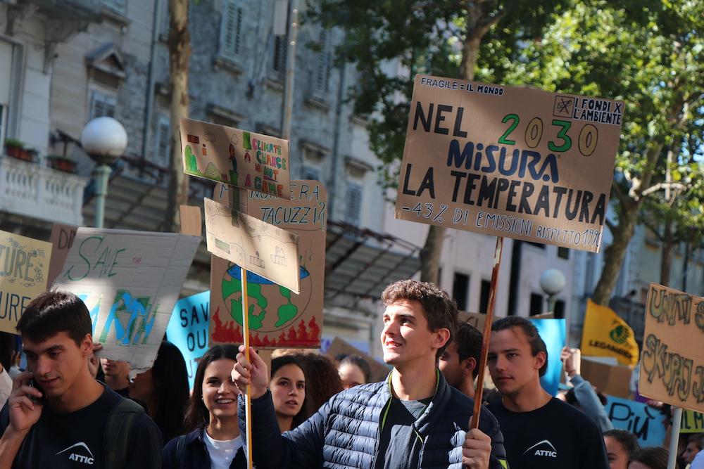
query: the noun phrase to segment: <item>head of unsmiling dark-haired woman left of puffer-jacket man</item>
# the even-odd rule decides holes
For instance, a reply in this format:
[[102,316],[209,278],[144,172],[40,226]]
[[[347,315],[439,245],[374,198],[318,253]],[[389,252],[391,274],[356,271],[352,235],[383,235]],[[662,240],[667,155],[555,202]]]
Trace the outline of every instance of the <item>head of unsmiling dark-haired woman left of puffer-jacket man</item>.
[[306,375],[295,356],[278,356],[271,361],[269,389],[282,433],[306,420]]

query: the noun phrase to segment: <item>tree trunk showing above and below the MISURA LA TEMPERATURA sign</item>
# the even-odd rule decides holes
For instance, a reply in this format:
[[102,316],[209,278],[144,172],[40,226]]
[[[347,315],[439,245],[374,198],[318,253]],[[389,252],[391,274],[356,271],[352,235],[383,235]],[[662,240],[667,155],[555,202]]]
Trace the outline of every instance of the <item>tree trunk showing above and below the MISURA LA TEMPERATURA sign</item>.
[[[472,4],[472,1],[467,2]],[[477,17],[477,8],[467,8],[467,32],[465,44],[462,51],[462,63],[460,64],[460,78],[466,80],[474,79],[474,66],[477,65],[479,56],[479,44],[486,33],[487,28],[479,31],[477,23],[481,18]],[[440,257],[442,246],[445,241],[447,228],[444,226],[430,225],[430,230],[425,238],[425,244],[420,250],[420,281],[440,283]]]

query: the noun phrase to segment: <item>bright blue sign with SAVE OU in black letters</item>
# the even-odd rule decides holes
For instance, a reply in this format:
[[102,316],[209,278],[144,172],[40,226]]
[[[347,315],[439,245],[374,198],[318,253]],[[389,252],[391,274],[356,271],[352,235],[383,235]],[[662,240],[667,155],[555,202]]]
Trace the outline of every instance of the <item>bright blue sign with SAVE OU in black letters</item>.
[[166,338],[183,354],[188,383],[193,389],[198,361],[208,351],[210,330],[210,292],[178,300],[166,326]]

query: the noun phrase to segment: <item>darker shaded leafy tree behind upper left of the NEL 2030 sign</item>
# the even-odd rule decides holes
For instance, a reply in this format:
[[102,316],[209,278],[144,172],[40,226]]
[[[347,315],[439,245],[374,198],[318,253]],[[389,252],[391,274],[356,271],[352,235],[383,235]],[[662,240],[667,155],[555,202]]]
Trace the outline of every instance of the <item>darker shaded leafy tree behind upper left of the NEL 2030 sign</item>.
[[[417,73],[474,79],[477,68],[503,70],[522,44],[539,37],[566,0],[316,0],[308,18],[340,27],[337,58],[356,64],[355,112],[368,118],[381,172],[396,184],[413,79]],[[491,46],[484,46],[491,39]],[[407,74],[389,74],[389,63]],[[389,174],[390,171],[390,174]],[[421,279],[438,281],[446,229],[430,226],[420,252]]]

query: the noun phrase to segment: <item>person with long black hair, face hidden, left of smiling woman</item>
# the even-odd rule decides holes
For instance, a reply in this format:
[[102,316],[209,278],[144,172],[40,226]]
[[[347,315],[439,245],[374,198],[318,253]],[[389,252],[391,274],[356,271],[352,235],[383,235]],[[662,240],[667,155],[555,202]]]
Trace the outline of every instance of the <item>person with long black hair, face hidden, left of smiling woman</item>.
[[181,351],[171,342],[161,342],[149,370],[134,377],[130,398],[142,402],[146,413],[168,442],[183,432],[183,413],[188,403],[188,372]]

